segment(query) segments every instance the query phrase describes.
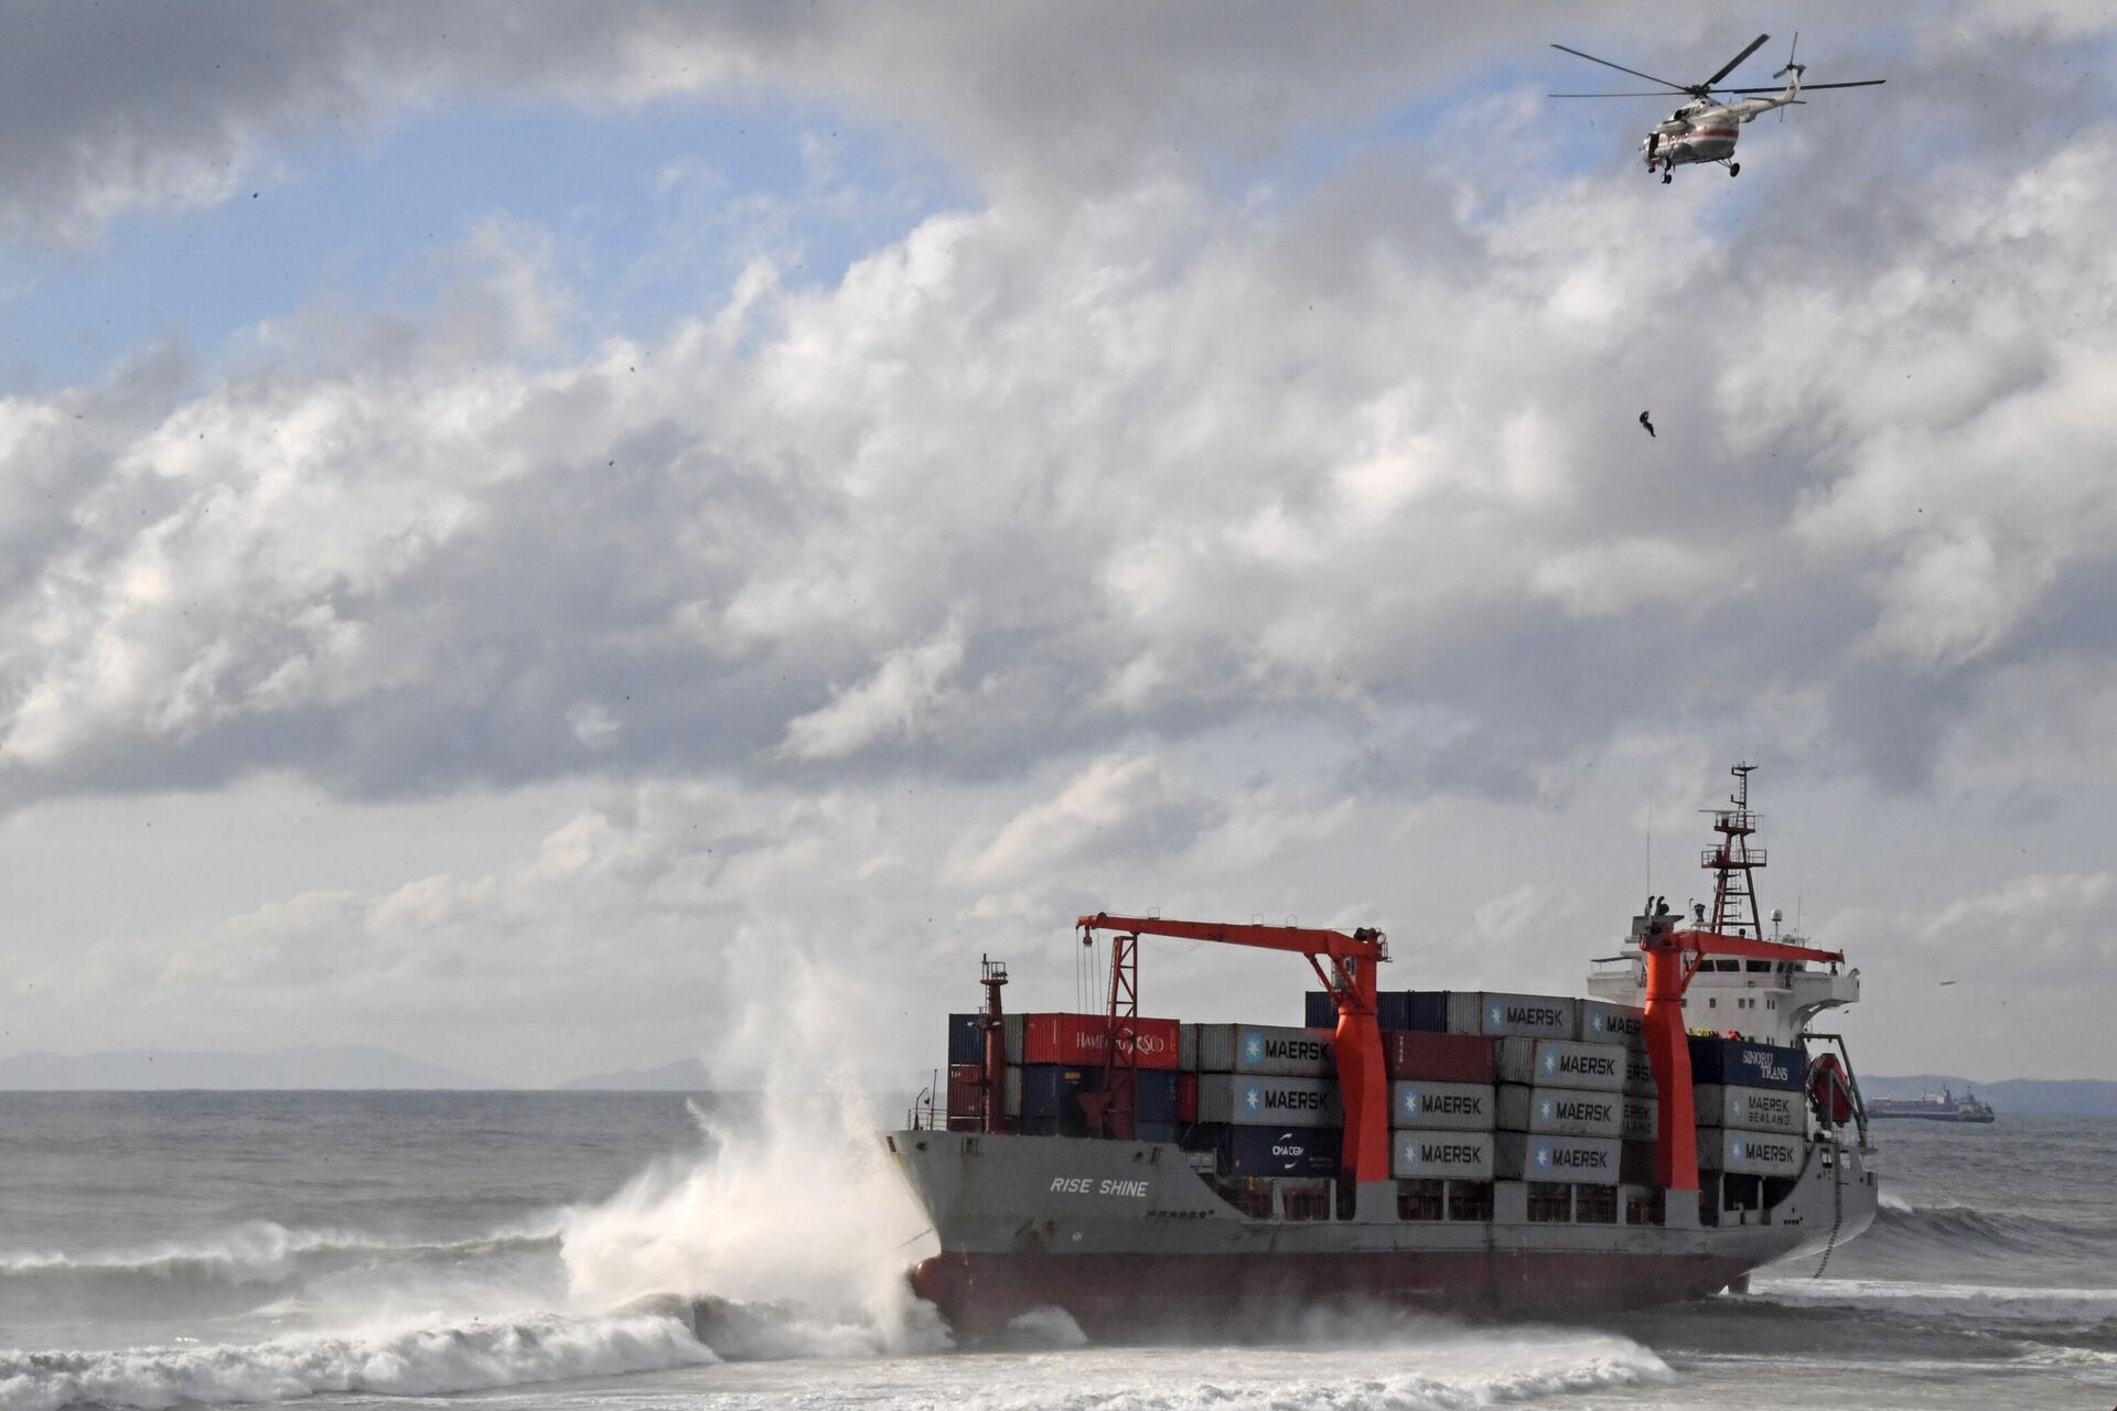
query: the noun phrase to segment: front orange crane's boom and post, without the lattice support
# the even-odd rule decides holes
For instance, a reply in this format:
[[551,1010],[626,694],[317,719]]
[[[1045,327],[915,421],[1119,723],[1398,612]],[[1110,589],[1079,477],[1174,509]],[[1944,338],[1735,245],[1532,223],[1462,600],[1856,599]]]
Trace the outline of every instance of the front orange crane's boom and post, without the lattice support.
[[[1389,1180],[1389,1075],[1382,1070],[1382,1028],[1374,1009],[1374,967],[1389,958],[1389,937],[1368,927],[1346,935],[1317,927],[1166,920],[1109,912],[1082,916],[1075,924],[1084,939],[1097,931],[1114,931],[1128,937],[1162,935],[1308,956],[1308,965],[1338,1005],[1332,1049],[1344,1100],[1344,1168],[1353,1172],[1355,1183]],[[1111,1024],[1116,1028],[1116,1018]]]

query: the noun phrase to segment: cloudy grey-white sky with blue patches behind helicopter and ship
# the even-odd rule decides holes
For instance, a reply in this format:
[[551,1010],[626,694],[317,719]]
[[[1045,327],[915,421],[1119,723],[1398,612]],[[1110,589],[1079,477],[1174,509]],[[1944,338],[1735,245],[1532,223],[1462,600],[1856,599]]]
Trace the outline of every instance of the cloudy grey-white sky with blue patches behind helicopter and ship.
[[1863,1068],[2111,1075],[2113,28],[11,6],[0,1053],[1579,992],[1747,757]]

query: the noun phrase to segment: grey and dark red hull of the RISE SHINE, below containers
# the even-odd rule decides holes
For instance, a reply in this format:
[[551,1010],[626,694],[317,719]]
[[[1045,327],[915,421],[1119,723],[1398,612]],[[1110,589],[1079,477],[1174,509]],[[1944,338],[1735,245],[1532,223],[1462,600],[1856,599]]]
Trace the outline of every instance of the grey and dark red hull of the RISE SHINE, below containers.
[[1156,1142],[895,1132],[889,1149],[934,1218],[940,1254],[910,1273],[967,1337],[1042,1307],[1105,1339],[1270,1326],[1342,1303],[1467,1316],[1607,1314],[1713,1295],[1751,1269],[1825,1257],[1861,1233],[1876,1183],[1823,1147],[1772,1210],[1700,1227],[1531,1223],[1520,1183],[1490,1221],[1401,1221],[1395,1185],[1361,1187],[1353,1218],[1253,1218]]

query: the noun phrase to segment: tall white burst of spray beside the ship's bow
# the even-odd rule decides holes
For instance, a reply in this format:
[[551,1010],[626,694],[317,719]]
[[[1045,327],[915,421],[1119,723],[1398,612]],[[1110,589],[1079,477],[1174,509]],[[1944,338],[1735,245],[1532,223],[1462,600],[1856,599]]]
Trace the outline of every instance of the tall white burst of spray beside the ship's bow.
[[[779,958],[730,1049],[768,1053],[756,1113],[692,1106],[707,1151],[661,1159],[618,1195],[567,1214],[576,1299],[699,1299],[701,1333],[730,1356],[862,1356],[946,1345],[904,1271],[934,1240],[876,1136],[872,1073],[847,1060],[857,990],[817,963]],[[747,1314],[743,1312],[747,1309]],[[730,1345],[735,1339],[739,1345]]]

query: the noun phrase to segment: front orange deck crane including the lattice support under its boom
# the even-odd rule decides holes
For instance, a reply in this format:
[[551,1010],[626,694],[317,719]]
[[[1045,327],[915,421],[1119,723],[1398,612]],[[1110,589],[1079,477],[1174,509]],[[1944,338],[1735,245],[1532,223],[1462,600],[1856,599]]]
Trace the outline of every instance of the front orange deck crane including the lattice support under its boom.
[[[1374,967],[1389,958],[1389,939],[1361,927],[1323,931],[1315,927],[1260,927],[1219,920],[1164,920],[1160,916],[1111,916],[1097,912],[1078,922],[1082,943],[1092,943],[1097,931],[1114,933],[1109,954],[1109,1037],[1105,1041],[1103,1104],[1090,1111],[1101,1121],[1107,1106],[1128,1115],[1128,1079],[1135,1068],[1130,1030],[1124,1020],[1139,1015],[1139,950],[1141,935],[1166,935],[1186,941],[1217,941],[1255,950],[1289,950],[1308,956],[1323,988],[1338,1005],[1338,1089],[1344,1100],[1344,1168],[1355,1183],[1389,1180],[1389,1075],[1382,1070],[1382,1028],[1374,1009]],[[1325,967],[1327,963],[1327,967]],[[1687,1089],[1685,1089],[1687,1092]],[[1696,1155],[1694,1155],[1696,1163]],[[1696,1178],[1694,1178],[1696,1183]]]

